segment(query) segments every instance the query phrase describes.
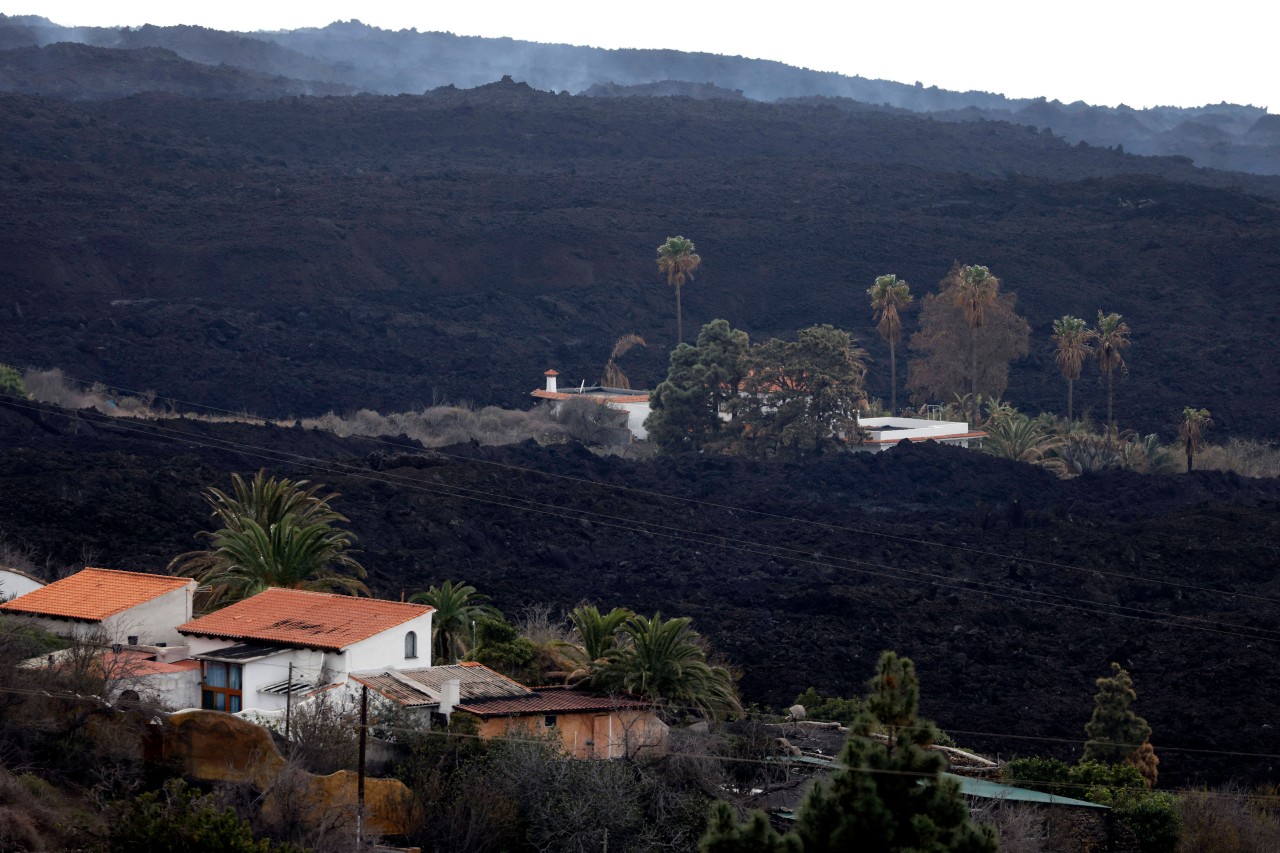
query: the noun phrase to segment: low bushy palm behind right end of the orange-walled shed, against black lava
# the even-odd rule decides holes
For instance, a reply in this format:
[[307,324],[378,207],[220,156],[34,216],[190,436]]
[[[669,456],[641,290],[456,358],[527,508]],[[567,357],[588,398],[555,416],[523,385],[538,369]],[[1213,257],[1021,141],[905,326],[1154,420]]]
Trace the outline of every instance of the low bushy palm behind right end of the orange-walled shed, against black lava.
[[660,613],[632,616],[622,628],[625,642],[605,653],[593,685],[708,717],[741,713],[732,675],[707,662],[691,621],[687,616],[664,620]]

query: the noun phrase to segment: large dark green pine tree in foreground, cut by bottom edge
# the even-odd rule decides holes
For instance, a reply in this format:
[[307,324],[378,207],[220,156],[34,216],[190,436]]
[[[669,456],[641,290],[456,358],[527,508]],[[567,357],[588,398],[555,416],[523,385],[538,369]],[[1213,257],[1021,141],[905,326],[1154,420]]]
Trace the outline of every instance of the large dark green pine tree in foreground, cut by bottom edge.
[[[927,749],[938,730],[916,717],[920,689],[915,666],[884,652],[869,686],[865,710],[850,727],[840,756],[840,770],[828,783],[809,790],[791,833],[774,841],[759,829],[762,812],[740,826],[732,822],[727,807],[718,806],[703,836],[703,852],[993,853],[995,830],[970,821],[959,786],[941,775],[946,760]],[[876,725],[884,730],[887,743],[872,736]],[[748,840],[759,845],[742,847]]]

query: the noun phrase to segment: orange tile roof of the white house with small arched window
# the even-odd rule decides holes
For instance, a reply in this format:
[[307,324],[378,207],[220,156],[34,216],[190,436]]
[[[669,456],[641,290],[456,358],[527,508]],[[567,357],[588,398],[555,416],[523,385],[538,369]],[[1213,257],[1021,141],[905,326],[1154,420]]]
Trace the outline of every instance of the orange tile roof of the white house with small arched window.
[[273,588],[179,625],[178,630],[340,652],[431,610],[428,605]]

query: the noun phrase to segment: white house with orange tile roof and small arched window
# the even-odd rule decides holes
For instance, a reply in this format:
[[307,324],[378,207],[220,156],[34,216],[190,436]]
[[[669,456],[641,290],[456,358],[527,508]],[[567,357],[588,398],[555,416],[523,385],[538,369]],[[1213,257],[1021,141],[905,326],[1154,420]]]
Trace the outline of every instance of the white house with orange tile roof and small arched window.
[[[351,672],[431,665],[426,605],[266,589],[178,626],[201,662],[200,707],[273,712]],[[419,657],[421,654],[421,657]]]

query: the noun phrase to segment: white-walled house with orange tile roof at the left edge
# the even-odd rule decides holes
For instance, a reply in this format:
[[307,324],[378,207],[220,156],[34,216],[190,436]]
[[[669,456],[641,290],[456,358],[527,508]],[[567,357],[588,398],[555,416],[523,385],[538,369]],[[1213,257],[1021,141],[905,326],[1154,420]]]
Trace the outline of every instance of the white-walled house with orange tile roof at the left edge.
[[99,644],[182,643],[196,581],[114,569],[84,569],[0,605],[47,631]]

